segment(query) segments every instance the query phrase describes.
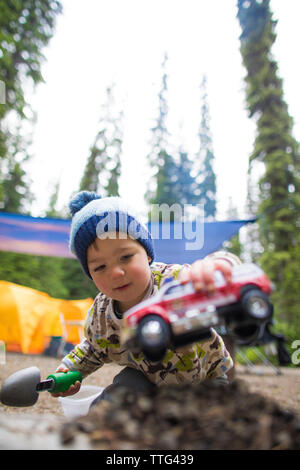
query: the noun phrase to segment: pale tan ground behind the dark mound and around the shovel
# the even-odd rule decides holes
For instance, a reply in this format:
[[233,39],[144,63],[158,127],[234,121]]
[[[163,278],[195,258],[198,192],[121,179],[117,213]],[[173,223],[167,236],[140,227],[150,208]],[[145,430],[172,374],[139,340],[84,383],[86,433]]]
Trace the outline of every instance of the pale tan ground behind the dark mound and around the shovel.
[[[0,364],[0,387],[3,381],[13,372],[30,366],[37,366],[41,371],[41,379],[53,373],[59,364],[59,359],[47,356],[22,355],[7,353],[5,364]],[[105,387],[109,385],[116,373],[122,368],[105,365],[99,371],[85,379],[85,384]],[[280,368],[280,375],[265,366],[257,366],[249,371],[243,366],[236,366],[235,378],[247,384],[250,392],[262,394],[275,400],[282,409],[290,410],[300,417],[300,367]],[[40,393],[37,403],[28,408],[7,407],[0,404],[0,411],[5,413],[54,414],[63,417],[61,405],[57,398],[48,392]]]

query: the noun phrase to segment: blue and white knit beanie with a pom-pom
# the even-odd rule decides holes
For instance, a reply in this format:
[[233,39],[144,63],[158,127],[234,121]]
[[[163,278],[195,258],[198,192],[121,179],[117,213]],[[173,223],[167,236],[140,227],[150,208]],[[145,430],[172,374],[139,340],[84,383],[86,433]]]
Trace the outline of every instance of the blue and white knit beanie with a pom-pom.
[[87,266],[87,249],[105,232],[124,232],[138,241],[154,260],[150,232],[138,213],[119,197],[101,198],[90,191],[76,194],[69,204],[72,215],[70,250],[79,259],[84,272],[91,278]]

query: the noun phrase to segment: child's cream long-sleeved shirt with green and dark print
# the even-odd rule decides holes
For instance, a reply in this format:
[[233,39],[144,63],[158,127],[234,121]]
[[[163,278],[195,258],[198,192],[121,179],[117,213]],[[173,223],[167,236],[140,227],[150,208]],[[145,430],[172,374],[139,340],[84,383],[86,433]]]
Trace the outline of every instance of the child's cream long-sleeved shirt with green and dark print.
[[[233,265],[240,263],[235,255],[227,252],[216,252],[207,258],[227,259]],[[167,279],[176,279],[181,269],[188,267],[152,263],[151,282],[143,300],[155,295]],[[129,366],[140,370],[159,386],[216,379],[233,365],[223,339],[214,329],[209,339],[184,348],[169,349],[160,362],[151,362],[143,353],[134,354],[122,345],[121,328],[122,319],[115,312],[113,299],[100,292],[88,312],[85,339],[63,358],[63,364],[79,370],[83,378],[104,364]]]

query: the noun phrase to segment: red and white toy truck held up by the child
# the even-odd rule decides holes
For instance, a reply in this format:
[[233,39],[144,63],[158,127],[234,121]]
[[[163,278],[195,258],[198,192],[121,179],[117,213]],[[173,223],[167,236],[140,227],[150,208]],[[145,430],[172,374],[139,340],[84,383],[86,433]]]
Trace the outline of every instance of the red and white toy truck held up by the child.
[[129,309],[123,319],[123,343],[152,361],[166,350],[208,338],[211,327],[225,325],[241,343],[259,336],[273,315],[271,282],[255,264],[233,268],[232,282],[215,273],[213,294],[196,292],[192,282],[167,282],[148,300]]

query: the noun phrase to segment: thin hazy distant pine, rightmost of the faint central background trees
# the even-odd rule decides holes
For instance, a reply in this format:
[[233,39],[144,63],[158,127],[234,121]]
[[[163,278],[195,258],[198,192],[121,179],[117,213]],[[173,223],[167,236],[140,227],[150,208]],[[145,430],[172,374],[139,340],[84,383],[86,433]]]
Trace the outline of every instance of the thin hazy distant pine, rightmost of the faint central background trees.
[[206,219],[215,219],[216,216],[216,175],[214,173],[214,152],[210,132],[210,115],[207,96],[207,80],[203,77],[202,84],[201,124],[199,127],[199,150],[196,154],[198,167],[197,181],[200,188],[199,203],[204,205]]

